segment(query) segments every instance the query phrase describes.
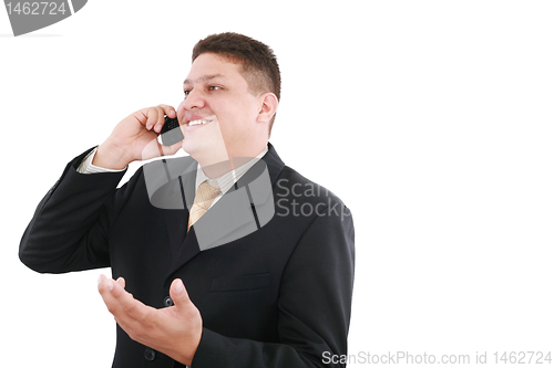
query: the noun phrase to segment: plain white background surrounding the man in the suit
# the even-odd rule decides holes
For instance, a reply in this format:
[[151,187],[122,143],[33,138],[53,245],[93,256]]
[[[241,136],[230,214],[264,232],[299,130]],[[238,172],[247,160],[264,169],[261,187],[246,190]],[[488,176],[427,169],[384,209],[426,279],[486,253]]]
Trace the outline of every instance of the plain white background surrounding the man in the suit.
[[553,19],[551,1],[91,0],[13,38],[0,10],[4,354],[111,366],[110,271],[41,275],[19,241],[65,164],[177,106],[193,45],[223,31],[275,50],[270,141],[353,212],[350,354],[553,349]]

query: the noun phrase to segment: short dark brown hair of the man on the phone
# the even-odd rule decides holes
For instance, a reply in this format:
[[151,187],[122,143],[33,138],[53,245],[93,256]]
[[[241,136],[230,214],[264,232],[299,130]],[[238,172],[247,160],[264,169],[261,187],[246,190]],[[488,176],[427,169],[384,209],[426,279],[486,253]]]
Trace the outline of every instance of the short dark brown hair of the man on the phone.
[[[196,43],[193,62],[203,53],[214,53],[243,65],[243,76],[253,93],[271,92],[280,99],[280,72],[274,51],[244,34],[226,32],[211,34]],[[269,122],[269,134],[275,115]]]

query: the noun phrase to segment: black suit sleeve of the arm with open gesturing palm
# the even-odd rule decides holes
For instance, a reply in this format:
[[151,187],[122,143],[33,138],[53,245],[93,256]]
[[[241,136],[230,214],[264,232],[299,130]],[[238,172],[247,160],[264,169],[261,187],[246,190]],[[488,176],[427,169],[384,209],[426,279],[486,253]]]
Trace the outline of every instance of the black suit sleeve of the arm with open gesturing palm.
[[306,231],[283,275],[279,344],[228,338],[204,328],[192,368],[345,367],[330,357],[347,354],[353,223],[351,215],[325,213]]

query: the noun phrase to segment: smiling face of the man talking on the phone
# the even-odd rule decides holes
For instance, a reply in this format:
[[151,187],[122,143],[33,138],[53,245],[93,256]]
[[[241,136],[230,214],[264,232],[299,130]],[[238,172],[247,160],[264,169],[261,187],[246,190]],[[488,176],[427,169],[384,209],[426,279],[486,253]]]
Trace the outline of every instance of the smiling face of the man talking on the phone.
[[[177,108],[177,118],[185,125],[183,149],[191,156],[205,156],[222,148],[223,143],[227,154],[235,156],[242,145],[254,139],[260,104],[248,91],[240,69],[240,64],[213,53],[194,61],[183,84],[185,99]],[[216,122],[188,126],[214,115]]]

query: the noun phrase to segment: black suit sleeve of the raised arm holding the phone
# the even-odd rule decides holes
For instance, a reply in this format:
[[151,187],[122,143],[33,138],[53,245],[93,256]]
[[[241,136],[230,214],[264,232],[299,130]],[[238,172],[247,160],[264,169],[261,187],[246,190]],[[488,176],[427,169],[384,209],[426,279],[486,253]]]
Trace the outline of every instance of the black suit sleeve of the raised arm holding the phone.
[[110,265],[110,199],[124,171],[79,174],[76,168],[90,151],[68,164],[23,233],[19,257],[37,272],[64,273]]

